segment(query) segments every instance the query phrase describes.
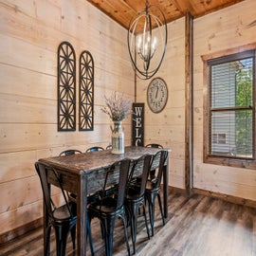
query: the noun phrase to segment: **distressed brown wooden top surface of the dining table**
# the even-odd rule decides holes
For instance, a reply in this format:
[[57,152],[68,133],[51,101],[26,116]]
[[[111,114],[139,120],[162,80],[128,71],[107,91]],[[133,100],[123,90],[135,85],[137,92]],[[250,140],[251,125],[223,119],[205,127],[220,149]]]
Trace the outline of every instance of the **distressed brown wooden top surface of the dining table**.
[[111,150],[103,150],[74,155],[52,156],[42,158],[39,161],[43,161],[54,168],[66,170],[74,174],[84,174],[84,172],[90,173],[96,169],[106,168],[124,158],[137,159],[146,154],[155,155],[161,150],[162,149],[158,148],[129,146],[125,147],[124,154],[112,154]]

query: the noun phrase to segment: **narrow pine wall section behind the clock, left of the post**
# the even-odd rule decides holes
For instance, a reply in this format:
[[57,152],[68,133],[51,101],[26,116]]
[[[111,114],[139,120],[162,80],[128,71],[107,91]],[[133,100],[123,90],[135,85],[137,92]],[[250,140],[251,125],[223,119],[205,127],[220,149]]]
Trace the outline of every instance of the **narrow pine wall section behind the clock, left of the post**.
[[[147,87],[155,77],[168,86],[169,99],[160,113],[147,105]],[[185,18],[168,24],[164,61],[149,81],[137,80],[137,102],[145,102],[145,144],[172,149],[169,184],[184,189],[185,183]]]

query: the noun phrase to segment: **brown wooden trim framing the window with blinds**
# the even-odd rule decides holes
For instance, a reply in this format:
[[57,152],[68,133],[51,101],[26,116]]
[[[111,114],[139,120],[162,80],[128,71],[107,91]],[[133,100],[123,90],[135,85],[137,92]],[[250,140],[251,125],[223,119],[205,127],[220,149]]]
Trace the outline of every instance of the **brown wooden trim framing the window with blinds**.
[[[243,47],[237,47],[234,49],[230,49],[228,51],[222,51],[219,53],[211,54],[211,55],[205,55],[202,56],[202,59],[204,61],[204,87],[206,90],[204,94],[204,149],[203,149],[203,158],[204,163],[210,163],[210,164],[216,164],[216,165],[224,165],[224,166],[230,166],[230,167],[238,167],[238,168],[247,168],[247,169],[253,169],[256,170],[256,45],[252,44],[251,46],[246,46],[245,50],[241,50]],[[254,127],[254,141],[253,141],[253,157],[251,159],[248,158],[237,158],[230,156],[224,156],[224,155],[210,155],[209,149],[210,149],[210,102],[211,102],[211,94],[210,94],[210,85],[209,80],[211,77],[210,74],[210,67],[209,64],[220,64],[220,63],[226,63],[229,61],[239,60],[239,59],[245,59],[247,57],[251,57],[251,55],[254,55],[254,85],[253,85],[253,109],[252,109],[252,115],[253,115],[253,127]],[[234,58],[235,57],[235,58]],[[237,110],[238,108],[234,108]],[[246,107],[247,109],[247,107]],[[251,109],[251,108],[250,108]],[[215,109],[214,111],[218,111]]]

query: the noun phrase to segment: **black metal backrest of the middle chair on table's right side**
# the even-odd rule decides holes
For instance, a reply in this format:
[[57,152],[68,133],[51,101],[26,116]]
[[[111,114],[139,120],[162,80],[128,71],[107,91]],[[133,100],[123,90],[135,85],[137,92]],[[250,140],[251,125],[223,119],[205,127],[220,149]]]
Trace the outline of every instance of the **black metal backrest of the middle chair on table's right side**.
[[142,155],[133,162],[131,173],[129,174],[129,182],[133,184],[136,176],[140,176],[140,190],[138,196],[142,196],[145,192],[148,175],[151,168],[151,161],[153,155]]

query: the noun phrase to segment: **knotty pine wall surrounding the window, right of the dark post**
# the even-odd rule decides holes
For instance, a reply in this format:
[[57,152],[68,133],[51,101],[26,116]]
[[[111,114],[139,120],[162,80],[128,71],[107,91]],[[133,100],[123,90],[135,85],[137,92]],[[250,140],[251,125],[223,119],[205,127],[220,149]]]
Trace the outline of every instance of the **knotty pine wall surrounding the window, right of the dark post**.
[[256,1],[246,0],[194,20],[193,186],[256,201],[256,170],[203,163],[203,80],[201,56],[256,43]]

